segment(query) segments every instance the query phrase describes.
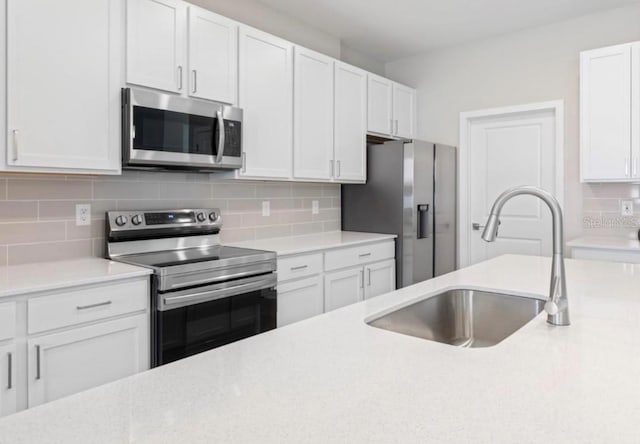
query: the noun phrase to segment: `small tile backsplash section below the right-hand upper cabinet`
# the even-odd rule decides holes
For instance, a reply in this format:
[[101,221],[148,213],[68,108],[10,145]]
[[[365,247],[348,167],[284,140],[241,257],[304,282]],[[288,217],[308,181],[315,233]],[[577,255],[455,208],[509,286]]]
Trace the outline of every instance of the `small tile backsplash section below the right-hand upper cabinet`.
[[[582,196],[584,235],[637,239],[640,229],[640,184],[584,184]],[[622,216],[622,201],[633,202],[632,216]]]

